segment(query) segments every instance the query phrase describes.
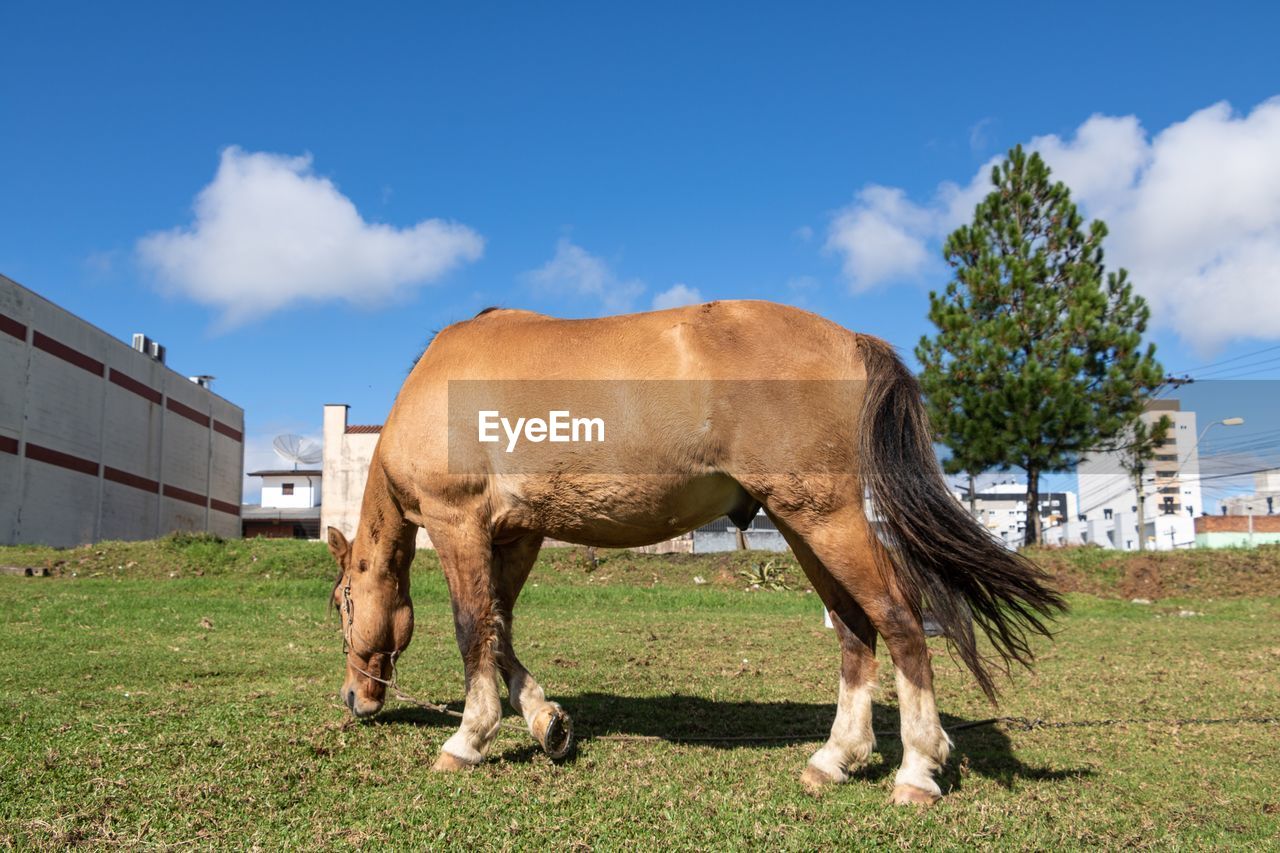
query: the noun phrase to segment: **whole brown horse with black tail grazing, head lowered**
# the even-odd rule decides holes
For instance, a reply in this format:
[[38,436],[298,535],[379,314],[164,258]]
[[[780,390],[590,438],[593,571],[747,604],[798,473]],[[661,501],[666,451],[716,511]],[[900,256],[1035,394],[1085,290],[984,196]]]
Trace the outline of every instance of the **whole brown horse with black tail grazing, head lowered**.
[[[769,302],[595,320],[489,310],[440,332],[383,428],[355,539],[329,529],[342,566],[343,699],[357,716],[381,708],[379,679],[413,631],[410,564],[422,526],[448,581],[466,671],[462,725],[435,768],[484,760],[502,717],[499,675],[554,754],[571,721],[511,639],[544,537],[641,546],[722,515],[744,525],[759,507],[795,551],[841,646],[836,720],[803,780],[844,781],[870,756],[879,634],[901,713],[892,799],[934,802],[951,742],[922,610],[993,697],[993,666],[1027,663],[1028,631],[1047,633],[1041,617],[1062,599],[947,492],[919,388],[892,348]],[[996,656],[979,651],[974,622]]]

